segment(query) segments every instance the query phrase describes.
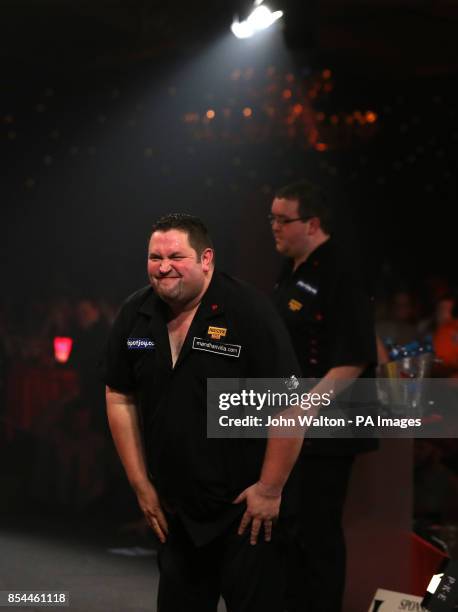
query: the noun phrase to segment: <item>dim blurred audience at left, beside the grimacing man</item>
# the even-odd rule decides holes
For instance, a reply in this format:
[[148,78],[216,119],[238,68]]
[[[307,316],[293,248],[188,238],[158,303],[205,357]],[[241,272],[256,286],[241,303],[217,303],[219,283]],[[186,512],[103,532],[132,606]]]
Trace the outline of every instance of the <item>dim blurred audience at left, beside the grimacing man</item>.
[[[104,388],[96,368],[110,324],[104,313],[111,317],[114,310],[108,300],[65,296],[0,308],[3,451],[18,459],[20,483],[6,492],[11,510],[26,499],[48,510],[79,512],[118,487],[121,471],[105,435]],[[56,336],[73,339],[67,363],[54,359]]]

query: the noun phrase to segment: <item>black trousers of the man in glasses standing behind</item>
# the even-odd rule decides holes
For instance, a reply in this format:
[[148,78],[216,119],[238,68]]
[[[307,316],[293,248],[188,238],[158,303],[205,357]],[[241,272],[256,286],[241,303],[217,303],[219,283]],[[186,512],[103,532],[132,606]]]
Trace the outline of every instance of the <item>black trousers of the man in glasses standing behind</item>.
[[300,457],[284,493],[287,612],[339,612],[345,588],[342,512],[353,457]]

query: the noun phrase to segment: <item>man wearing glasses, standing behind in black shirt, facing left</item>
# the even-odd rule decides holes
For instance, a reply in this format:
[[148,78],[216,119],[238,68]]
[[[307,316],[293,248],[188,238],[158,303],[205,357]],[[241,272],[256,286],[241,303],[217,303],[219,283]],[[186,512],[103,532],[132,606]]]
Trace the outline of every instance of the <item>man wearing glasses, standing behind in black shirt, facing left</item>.
[[[277,191],[269,219],[287,258],[274,301],[313,390],[373,377],[376,349],[371,301],[355,267],[332,239],[331,209],[303,180]],[[318,382],[318,380],[320,382]],[[317,386],[318,385],[318,386]],[[305,440],[283,511],[293,516],[288,553],[288,612],[338,612],[345,586],[343,506],[354,456],[370,440]],[[291,524],[291,523],[290,523]]]

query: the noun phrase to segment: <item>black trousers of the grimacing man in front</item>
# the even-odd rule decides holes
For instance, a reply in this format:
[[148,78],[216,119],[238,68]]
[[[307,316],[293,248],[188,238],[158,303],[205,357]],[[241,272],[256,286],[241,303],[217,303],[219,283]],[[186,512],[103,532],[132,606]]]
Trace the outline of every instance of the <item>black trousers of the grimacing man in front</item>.
[[[271,542],[249,543],[239,521],[216,540],[197,547],[179,519],[158,554],[158,612],[216,612],[220,595],[228,612],[282,612],[284,545],[274,526]],[[262,536],[262,537],[261,537]]]

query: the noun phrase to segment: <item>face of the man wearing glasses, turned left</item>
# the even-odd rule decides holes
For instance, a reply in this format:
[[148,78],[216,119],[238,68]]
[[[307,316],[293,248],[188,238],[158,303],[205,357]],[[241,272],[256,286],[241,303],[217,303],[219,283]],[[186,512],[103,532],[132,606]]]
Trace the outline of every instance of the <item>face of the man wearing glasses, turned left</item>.
[[308,222],[282,223],[300,217],[299,202],[275,198],[272,203],[272,215],[274,216],[272,232],[277,251],[286,257],[302,256],[308,249]]

